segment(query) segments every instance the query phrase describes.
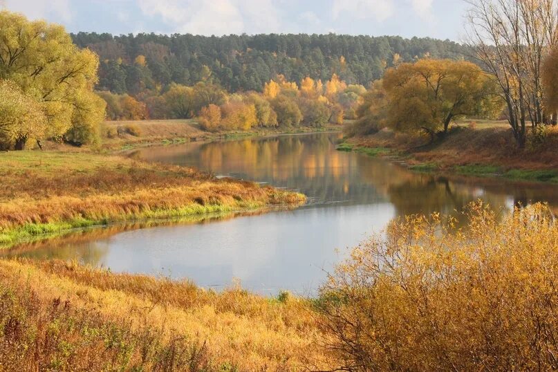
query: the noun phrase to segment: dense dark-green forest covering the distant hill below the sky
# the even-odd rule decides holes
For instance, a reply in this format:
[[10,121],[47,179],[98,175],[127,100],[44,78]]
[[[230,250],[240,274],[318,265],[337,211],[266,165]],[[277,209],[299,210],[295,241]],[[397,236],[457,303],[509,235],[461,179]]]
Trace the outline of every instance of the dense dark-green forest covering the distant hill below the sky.
[[100,56],[98,90],[136,95],[172,82],[210,80],[227,91],[261,91],[277,74],[288,81],[328,80],[367,86],[394,58],[458,58],[465,48],[449,40],[350,35],[120,35],[79,32],[75,44]]

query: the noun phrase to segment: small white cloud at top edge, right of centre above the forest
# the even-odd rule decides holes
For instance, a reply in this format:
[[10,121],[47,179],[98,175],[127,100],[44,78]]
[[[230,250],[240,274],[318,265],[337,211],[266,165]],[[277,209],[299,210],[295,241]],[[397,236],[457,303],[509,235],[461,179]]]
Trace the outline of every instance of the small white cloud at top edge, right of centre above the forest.
[[334,20],[346,13],[349,17],[381,22],[391,17],[394,10],[393,0],[333,0],[331,15]]

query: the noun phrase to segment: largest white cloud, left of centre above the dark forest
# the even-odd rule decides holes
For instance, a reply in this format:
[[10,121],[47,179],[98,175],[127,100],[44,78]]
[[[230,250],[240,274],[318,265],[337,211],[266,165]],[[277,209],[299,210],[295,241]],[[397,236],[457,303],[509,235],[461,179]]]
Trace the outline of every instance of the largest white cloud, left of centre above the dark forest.
[[279,31],[272,0],[140,0],[146,15],[160,16],[176,32],[224,35]]

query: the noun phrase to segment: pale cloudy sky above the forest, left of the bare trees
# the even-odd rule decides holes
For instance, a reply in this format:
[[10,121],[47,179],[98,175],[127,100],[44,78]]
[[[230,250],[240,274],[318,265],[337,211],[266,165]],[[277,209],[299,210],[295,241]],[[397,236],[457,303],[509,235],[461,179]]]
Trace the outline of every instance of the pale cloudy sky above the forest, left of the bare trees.
[[[2,2],[2,0],[0,0]],[[328,33],[459,41],[463,0],[3,0],[71,32]]]

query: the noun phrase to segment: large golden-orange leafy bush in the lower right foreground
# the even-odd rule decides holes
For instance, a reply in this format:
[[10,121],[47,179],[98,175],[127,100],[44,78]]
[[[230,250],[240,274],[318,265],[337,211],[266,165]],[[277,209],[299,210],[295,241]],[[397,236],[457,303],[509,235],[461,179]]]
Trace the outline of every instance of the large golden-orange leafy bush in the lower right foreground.
[[337,267],[315,306],[340,369],[558,368],[552,213],[500,217],[479,202],[464,216],[462,228],[438,214],[395,221]]

